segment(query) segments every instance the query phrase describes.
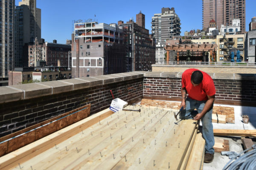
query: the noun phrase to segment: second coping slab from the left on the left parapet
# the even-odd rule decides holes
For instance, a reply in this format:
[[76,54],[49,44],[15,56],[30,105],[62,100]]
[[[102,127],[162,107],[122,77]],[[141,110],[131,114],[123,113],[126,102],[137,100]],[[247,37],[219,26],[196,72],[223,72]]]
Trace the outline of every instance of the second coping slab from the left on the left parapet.
[[52,88],[36,83],[11,85],[11,87],[24,91],[24,99],[31,99],[52,94]]

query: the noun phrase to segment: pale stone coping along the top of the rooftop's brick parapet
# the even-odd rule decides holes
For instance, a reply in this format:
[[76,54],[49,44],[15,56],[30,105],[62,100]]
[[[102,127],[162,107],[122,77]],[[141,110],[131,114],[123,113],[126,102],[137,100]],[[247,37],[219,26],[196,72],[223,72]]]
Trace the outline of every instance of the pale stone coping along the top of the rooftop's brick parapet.
[[[256,74],[208,73],[212,79],[256,80]],[[91,88],[142,77],[181,78],[182,72],[134,71],[95,77],[56,80],[0,87],[0,103]]]

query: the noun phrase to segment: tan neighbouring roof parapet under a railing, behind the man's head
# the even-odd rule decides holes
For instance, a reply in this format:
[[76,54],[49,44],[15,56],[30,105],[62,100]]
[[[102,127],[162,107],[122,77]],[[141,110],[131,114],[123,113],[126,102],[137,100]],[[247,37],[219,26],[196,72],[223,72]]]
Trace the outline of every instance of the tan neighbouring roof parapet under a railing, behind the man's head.
[[207,73],[256,74],[256,66],[254,65],[152,65],[152,71],[183,72],[189,68],[196,68]]

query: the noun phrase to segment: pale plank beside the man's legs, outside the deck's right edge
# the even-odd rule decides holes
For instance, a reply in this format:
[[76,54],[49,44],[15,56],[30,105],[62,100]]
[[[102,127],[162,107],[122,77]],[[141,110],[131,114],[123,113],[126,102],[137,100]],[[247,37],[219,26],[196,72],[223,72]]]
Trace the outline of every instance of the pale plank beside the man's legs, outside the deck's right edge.
[[200,170],[202,161],[204,162],[204,147],[205,140],[202,133],[198,133],[195,137],[195,142],[189,156],[189,161],[186,165],[186,170]]

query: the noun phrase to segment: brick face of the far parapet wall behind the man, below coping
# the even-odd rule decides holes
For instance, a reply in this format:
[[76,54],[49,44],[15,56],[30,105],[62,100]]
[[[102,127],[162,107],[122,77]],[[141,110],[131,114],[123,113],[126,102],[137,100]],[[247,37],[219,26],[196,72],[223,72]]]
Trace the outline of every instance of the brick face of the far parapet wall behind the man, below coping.
[[[213,79],[217,103],[256,102],[255,80]],[[143,97],[166,100],[181,100],[181,79],[166,77],[145,77],[143,80]],[[230,102],[232,101],[232,102]]]

